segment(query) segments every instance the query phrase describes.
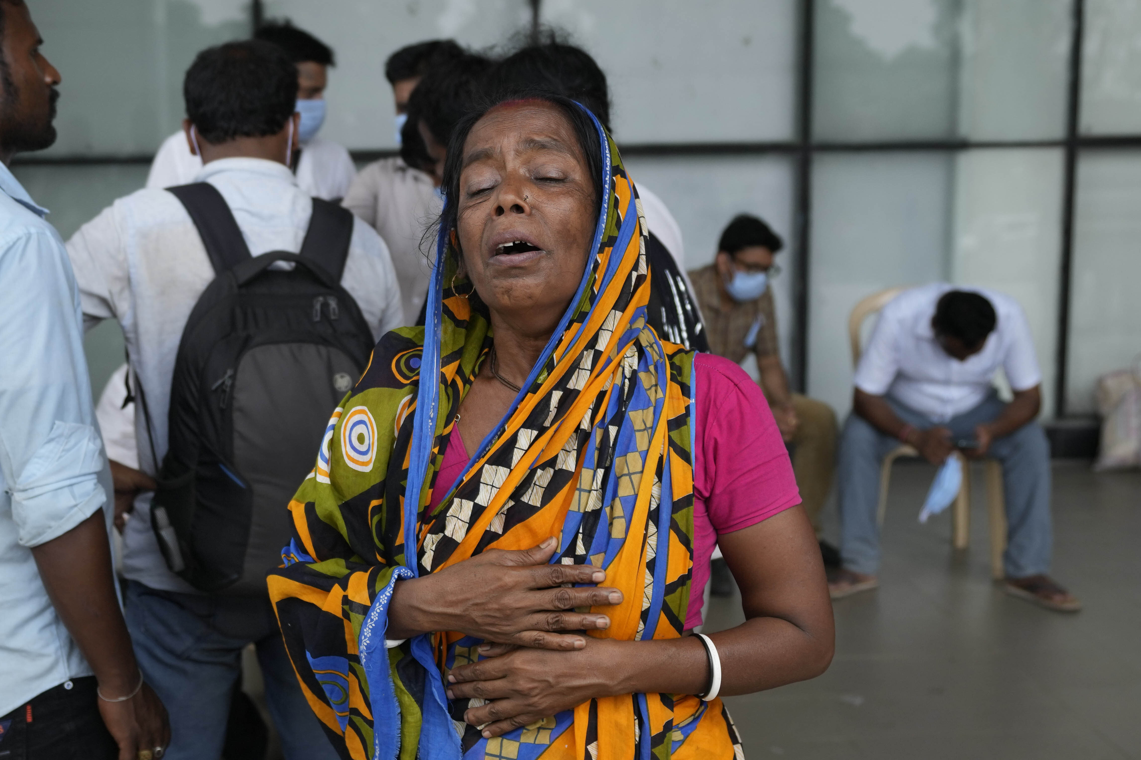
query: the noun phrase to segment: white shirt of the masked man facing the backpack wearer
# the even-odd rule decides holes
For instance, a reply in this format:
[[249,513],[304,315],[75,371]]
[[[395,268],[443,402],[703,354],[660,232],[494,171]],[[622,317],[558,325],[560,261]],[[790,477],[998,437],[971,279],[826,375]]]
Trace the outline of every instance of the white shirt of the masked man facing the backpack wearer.
[[[200,140],[202,138],[199,138]],[[165,140],[151,162],[146,186],[161,190],[187,185],[202,171],[202,158],[191,153],[185,132],[175,132]],[[325,201],[340,201],[348,193],[356,165],[345,146],[315,137],[301,146],[297,162],[297,185],[308,195]]]

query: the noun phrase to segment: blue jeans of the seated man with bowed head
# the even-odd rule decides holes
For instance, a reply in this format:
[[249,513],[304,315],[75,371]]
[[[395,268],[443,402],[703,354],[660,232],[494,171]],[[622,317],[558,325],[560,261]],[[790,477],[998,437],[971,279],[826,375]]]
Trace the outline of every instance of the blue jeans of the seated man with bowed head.
[[[906,423],[925,430],[936,423],[890,398],[888,403]],[[997,395],[964,411],[950,422],[955,439],[973,439],[974,427],[988,423],[1006,404]],[[899,446],[863,417],[851,414],[840,439],[840,554],[844,567],[875,574],[880,565],[880,464]],[[1026,578],[1050,570],[1053,530],[1050,517],[1050,443],[1042,427],[1029,422],[1010,435],[990,443],[988,457],[1002,463],[1006,501],[1006,551],[1003,566],[1008,578]],[[915,505],[916,514],[919,505]]]

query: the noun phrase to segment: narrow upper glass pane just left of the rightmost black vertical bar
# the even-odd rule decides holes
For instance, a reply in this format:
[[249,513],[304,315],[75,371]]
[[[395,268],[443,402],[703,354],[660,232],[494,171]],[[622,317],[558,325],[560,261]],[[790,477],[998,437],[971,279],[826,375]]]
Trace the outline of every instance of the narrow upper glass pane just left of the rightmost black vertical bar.
[[1071,0],[965,0],[958,133],[972,140],[1066,133]]

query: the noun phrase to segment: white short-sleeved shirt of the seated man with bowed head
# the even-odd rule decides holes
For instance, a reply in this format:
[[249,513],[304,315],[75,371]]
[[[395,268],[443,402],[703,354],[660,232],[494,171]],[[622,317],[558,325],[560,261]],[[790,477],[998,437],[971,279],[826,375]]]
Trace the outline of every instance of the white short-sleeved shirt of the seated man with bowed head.
[[[986,297],[998,318],[982,350],[965,361],[947,354],[931,329],[936,303],[952,289]],[[1015,391],[1028,391],[1042,382],[1022,308],[995,291],[936,283],[904,291],[883,308],[856,368],[855,382],[865,393],[890,395],[945,423],[986,399],[1000,367]]]

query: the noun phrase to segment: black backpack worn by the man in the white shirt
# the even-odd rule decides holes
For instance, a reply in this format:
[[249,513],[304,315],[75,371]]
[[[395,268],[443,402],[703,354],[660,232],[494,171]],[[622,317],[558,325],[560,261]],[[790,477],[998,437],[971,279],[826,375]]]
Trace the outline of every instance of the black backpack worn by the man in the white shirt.
[[[340,286],[353,214],[314,198],[299,254],[251,258],[213,186],[168,189],[194,220],[216,278],[178,345],[151,526],[167,565],[195,588],[265,595],[266,572],[292,536],[290,499],[373,348]],[[273,267],[280,261],[293,265]]]

